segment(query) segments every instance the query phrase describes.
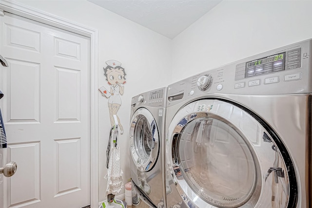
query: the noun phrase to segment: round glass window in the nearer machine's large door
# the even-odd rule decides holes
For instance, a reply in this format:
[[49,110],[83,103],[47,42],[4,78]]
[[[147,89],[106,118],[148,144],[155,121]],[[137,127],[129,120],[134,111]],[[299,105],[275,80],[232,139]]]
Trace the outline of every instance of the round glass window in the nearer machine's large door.
[[179,133],[181,174],[210,204],[239,207],[254,193],[259,173],[242,135],[215,115],[196,118]]

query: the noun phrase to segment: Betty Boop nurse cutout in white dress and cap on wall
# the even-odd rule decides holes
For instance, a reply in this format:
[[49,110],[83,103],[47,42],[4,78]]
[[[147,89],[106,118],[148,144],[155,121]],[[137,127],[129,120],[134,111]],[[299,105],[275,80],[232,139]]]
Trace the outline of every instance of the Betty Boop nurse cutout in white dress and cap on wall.
[[[121,63],[117,60],[108,60],[105,63],[107,64],[107,67],[103,67],[104,76],[106,77],[110,88],[107,90],[104,86],[102,86],[98,90],[103,96],[108,98],[109,115],[111,119],[111,126],[113,127],[115,124],[113,115],[117,115],[121,105],[120,95],[123,95],[124,84],[126,83],[126,73],[125,69],[121,67]],[[118,115],[117,120],[120,133],[123,134],[123,127],[120,123]]]

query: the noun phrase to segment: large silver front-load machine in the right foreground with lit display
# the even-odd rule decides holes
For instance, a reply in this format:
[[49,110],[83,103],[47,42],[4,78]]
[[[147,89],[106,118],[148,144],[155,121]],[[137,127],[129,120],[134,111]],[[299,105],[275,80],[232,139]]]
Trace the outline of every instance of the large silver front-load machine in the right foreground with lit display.
[[310,39],[168,86],[167,183],[187,207],[312,207],[311,50]]

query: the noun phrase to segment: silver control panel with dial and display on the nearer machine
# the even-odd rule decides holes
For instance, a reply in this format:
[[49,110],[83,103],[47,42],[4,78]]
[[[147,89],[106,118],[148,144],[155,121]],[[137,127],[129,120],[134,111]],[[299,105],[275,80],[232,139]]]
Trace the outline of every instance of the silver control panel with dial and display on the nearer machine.
[[312,39],[202,72],[168,86],[167,103],[204,94],[312,93]]

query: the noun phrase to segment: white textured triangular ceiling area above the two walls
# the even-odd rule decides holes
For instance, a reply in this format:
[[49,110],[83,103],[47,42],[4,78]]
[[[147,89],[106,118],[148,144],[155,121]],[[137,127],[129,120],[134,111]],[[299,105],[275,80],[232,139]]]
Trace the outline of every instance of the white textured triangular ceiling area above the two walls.
[[88,0],[170,39],[221,0]]

